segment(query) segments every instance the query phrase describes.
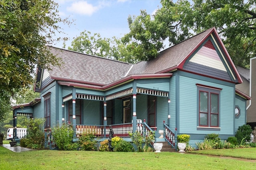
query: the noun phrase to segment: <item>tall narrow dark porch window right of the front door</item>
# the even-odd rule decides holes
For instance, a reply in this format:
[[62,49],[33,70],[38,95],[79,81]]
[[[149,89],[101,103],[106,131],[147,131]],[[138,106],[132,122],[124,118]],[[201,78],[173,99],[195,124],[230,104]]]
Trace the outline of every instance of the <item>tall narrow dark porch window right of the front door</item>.
[[148,125],[156,127],[156,96],[148,96]]

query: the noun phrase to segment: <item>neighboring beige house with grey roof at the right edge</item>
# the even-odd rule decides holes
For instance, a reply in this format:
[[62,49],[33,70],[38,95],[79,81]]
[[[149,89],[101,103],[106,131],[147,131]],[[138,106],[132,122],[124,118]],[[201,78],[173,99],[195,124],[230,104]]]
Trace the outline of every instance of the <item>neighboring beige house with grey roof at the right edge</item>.
[[247,100],[247,124],[254,129],[256,127],[256,57],[250,59],[250,69],[236,66],[243,83],[236,84],[236,89],[249,95]]

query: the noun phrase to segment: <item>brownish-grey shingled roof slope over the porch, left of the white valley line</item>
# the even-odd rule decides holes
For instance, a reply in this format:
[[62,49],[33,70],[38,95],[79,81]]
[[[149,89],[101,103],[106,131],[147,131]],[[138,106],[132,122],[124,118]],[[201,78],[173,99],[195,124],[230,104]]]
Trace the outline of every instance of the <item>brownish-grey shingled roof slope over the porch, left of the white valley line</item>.
[[106,85],[125,77],[132,66],[121,61],[49,48],[63,62],[60,67],[52,66],[50,77],[55,80]]

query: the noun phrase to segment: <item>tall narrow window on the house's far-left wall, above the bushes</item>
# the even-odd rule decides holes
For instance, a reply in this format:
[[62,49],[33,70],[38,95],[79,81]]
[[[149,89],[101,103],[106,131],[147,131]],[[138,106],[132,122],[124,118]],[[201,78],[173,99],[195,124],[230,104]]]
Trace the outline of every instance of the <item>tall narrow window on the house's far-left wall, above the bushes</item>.
[[44,129],[50,128],[51,125],[51,119],[50,119],[50,95],[51,93],[47,93],[43,96],[44,98]]

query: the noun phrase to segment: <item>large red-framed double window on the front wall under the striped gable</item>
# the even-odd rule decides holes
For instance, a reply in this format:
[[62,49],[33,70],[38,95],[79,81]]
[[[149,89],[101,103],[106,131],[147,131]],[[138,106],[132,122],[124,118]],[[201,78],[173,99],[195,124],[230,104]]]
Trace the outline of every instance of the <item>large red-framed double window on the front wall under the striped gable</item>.
[[199,126],[219,127],[220,89],[203,88],[199,90]]

